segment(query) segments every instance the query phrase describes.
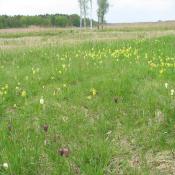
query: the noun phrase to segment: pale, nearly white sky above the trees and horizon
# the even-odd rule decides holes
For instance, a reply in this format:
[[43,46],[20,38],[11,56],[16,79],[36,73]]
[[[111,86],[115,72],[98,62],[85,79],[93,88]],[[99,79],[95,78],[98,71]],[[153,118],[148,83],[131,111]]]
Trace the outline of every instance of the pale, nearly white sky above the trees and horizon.
[[[78,0],[0,0],[0,14],[79,13]],[[175,0],[109,0],[108,22],[175,20]],[[96,19],[96,0],[93,16]]]

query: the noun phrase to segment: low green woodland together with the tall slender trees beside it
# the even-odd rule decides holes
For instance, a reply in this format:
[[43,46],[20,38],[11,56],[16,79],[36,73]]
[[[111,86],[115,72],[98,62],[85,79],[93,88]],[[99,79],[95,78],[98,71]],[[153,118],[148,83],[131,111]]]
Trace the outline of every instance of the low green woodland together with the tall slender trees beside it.
[[[80,7],[80,16],[62,15],[62,14],[46,14],[35,16],[0,16],[0,28],[17,28],[17,27],[29,27],[29,26],[41,26],[41,27],[79,27],[86,28],[98,24],[98,28],[103,29],[105,22],[105,15],[109,9],[108,0],[96,0],[97,1],[97,17],[98,22],[93,20],[93,0],[78,0]],[[90,19],[88,18],[90,10]]]

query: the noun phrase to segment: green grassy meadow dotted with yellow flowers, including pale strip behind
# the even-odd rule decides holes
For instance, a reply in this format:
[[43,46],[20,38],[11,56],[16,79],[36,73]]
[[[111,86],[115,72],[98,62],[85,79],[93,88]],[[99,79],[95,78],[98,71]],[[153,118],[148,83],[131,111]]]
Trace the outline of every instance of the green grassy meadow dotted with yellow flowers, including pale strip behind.
[[0,175],[175,174],[173,30],[4,32]]

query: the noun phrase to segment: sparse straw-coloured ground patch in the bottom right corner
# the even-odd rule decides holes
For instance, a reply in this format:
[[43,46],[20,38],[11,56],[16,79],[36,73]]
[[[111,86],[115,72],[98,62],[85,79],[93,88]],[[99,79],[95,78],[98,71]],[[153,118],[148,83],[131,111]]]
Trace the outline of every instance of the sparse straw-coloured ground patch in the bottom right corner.
[[175,153],[173,151],[152,150],[146,154],[139,149],[135,139],[119,135],[115,140],[118,148],[105,170],[106,175],[142,175],[146,168],[150,175],[175,175]]

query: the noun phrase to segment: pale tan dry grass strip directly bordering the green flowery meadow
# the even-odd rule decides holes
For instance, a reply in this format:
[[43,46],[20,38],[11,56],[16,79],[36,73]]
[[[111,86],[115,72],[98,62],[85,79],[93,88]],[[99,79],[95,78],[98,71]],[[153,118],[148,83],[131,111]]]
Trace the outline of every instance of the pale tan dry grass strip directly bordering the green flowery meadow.
[[[25,29],[23,29],[25,30]],[[46,30],[46,29],[43,29]],[[47,29],[48,30],[48,29]],[[50,29],[52,30],[52,29]],[[6,30],[1,30],[2,31]],[[7,32],[13,32],[12,29],[7,29]],[[22,29],[15,29],[19,35]],[[26,29],[26,32],[28,30]],[[30,31],[30,30],[29,30]],[[36,30],[37,31],[37,30]],[[42,31],[42,29],[41,29]],[[63,32],[64,33],[64,32]],[[43,47],[47,45],[65,45],[65,44],[78,44],[82,42],[93,41],[114,41],[114,40],[128,40],[128,39],[150,39],[166,35],[175,35],[175,30],[168,31],[133,31],[133,32],[120,32],[120,31],[77,31],[66,32],[67,34],[60,33],[55,36],[37,36],[36,33],[31,36],[17,37],[17,38],[0,38],[0,49],[16,49],[25,47]]]

